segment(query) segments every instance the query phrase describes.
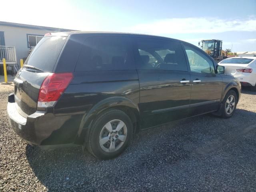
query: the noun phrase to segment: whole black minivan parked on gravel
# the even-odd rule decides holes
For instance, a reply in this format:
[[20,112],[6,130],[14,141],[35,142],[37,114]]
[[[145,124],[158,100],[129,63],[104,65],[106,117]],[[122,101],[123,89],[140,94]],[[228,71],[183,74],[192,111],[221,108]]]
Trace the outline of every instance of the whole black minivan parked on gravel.
[[196,46],[128,33],[46,34],[14,79],[13,130],[44,149],[114,158],[139,130],[200,114],[229,118],[240,82]]

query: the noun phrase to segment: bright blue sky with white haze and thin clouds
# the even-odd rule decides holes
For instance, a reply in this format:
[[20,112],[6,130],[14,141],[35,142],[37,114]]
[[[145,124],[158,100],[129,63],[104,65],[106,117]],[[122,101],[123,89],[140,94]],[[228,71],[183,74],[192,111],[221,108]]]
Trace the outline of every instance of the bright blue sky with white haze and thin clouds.
[[220,39],[223,49],[256,51],[256,0],[8,0],[1,4],[12,7],[11,14],[1,9],[0,20],[7,22],[154,34],[195,45],[202,39]]

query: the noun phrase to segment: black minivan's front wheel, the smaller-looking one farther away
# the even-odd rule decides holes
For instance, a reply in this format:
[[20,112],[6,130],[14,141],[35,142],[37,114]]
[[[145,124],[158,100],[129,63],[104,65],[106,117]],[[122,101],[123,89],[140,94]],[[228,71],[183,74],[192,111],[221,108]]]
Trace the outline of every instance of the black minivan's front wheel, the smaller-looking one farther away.
[[232,117],[232,115],[236,110],[237,103],[238,103],[238,98],[237,98],[236,92],[233,90],[228,91],[228,93],[226,94],[223,100],[223,104],[221,108],[221,112],[222,112],[221,117],[222,118]]

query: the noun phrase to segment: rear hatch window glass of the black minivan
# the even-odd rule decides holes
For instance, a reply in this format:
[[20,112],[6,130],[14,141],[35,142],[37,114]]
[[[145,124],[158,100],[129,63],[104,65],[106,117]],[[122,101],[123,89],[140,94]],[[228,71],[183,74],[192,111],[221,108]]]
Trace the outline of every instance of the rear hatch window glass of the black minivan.
[[44,72],[52,72],[67,37],[44,37],[35,46],[24,64],[34,66]]

